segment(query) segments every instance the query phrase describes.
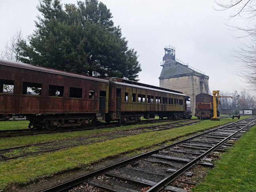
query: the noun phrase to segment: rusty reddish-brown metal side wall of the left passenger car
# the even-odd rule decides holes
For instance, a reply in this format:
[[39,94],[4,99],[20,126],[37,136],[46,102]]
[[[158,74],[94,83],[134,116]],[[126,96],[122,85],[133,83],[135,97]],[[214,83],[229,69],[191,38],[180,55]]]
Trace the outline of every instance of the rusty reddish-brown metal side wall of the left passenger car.
[[[106,92],[106,113],[108,112],[109,83],[105,80],[95,81],[95,78],[90,77],[83,79],[82,75],[76,77],[74,73],[65,72],[62,73],[66,75],[59,75],[43,72],[38,68],[39,70],[30,70],[0,63],[0,79],[14,81],[13,94],[0,93],[0,114],[96,113],[99,111],[100,90]],[[69,76],[70,74],[73,76]],[[41,96],[22,94],[23,82],[40,83]],[[48,96],[49,85],[64,87],[63,97]],[[69,98],[70,87],[82,88],[82,98]],[[94,99],[89,99],[89,89],[95,90]]]

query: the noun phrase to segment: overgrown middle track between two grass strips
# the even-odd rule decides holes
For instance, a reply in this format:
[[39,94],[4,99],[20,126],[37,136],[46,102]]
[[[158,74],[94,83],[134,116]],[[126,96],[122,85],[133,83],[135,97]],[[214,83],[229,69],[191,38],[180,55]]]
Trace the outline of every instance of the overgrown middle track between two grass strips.
[[[173,123],[164,124],[164,125],[147,126],[147,127],[135,128],[135,129],[132,129],[132,130],[128,129],[128,130],[124,130],[124,131],[111,132],[109,134],[100,134],[100,135],[98,135],[98,137],[104,136],[104,138],[106,138],[106,139],[100,139],[100,140],[97,140],[95,142],[102,142],[102,141],[109,140],[109,139],[116,139],[116,138],[120,138],[120,137],[126,137],[126,136],[129,136],[129,135],[140,134],[140,132],[139,132],[140,130],[147,130],[147,132],[161,131],[161,130],[173,129],[173,128],[177,128],[177,127],[181,127],[181,126],[187,126],[187,125],[190,125],[190,124],[193,124],[193,123],[196,123],[196,122],[200,122],[200,121],[201,120],[197,120],[197,119],[183,120],[183,121],[180,121],[180,122],[173,122]],[[117,134],[117,136],[113,136],[115,134]],[[28,156],[28,155],[34,155],[34,154],[43,153],[43,152],[57,151],[57,150],[65,149],[65,148],[68,148],[68,147],[75,147],[75,146],[79,146],[79,145],[87,145],[88,143],[94,143],[92,141],[87,143],[87,140],[95,138],[95,137],[96,136],[87,136],[87,137],[79,137],[79,138],[59,140],[58,143],[60,143],[60,142],[65,142],[66,143],[66,145],[64,145],[62,147],[60,147],[60,144],[58,144],[58,146],[56,146],[55,141],[50,141],[50,142],[33,144],[33,145],[25,145],[25,146],[19,146],[19,147],[12,147],[12,148],[8,148],[8,149],[0,149],[0,161],[6,161],[6,160],[10,160],[10,159],[25,157],[25,156]],[[38,150],[36,152],[26,152],[26,151],[29,151],[29,147],[41,148],[41,150]],[[51,147],[51,149],[49,149],[49,147]],[[43,150],[43,148],[46,148],[47,150]],[[19,150],[19,152],[21,152],[21,151],[24,151],[24,152],[23,152],[23,154],[20,154],[18,156],[11,156],[11,157],[6,157],[5,156],[5,154],[9,154],[13,150]]]

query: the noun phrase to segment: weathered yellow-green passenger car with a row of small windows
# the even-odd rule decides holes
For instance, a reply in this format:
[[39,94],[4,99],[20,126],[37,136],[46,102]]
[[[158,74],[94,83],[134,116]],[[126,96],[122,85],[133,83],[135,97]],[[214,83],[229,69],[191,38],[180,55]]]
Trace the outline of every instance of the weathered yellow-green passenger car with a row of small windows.
[[109,79],[109,113],[106,121],[120,119],[121,122],[136,122],[142,116],[151,119],[155,115],[161,119],[191,118],[186,111],[186,95],[126,79]]

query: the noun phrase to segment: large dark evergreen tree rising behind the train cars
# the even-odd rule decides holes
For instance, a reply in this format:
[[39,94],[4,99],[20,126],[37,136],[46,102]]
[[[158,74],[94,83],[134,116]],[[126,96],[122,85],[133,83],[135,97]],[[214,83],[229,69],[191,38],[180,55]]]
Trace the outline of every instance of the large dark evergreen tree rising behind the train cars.
[[[98,77],[137,81],[141,71],[137,52],[128,48],[112,14],[98,0],[65,4],[42,0],[36,30],[24,45],[24,61]],[[25,54],[26,53],[26,54]],[[26,59],[26,60],[25,60]]]

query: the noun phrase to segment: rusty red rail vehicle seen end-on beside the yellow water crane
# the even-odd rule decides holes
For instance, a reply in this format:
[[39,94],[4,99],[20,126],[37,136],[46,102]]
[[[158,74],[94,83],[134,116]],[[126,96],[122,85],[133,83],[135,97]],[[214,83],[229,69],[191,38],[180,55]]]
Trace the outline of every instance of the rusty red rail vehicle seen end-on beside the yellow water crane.
[[[216,98],[216,103],[218,99]],[[205,93],[198,94],[196,96],[196,112],[195,116],[198,119],[210,119],[213,117],[213,96]],[[217,110],[217,117],[220,116],[220,112]]]

